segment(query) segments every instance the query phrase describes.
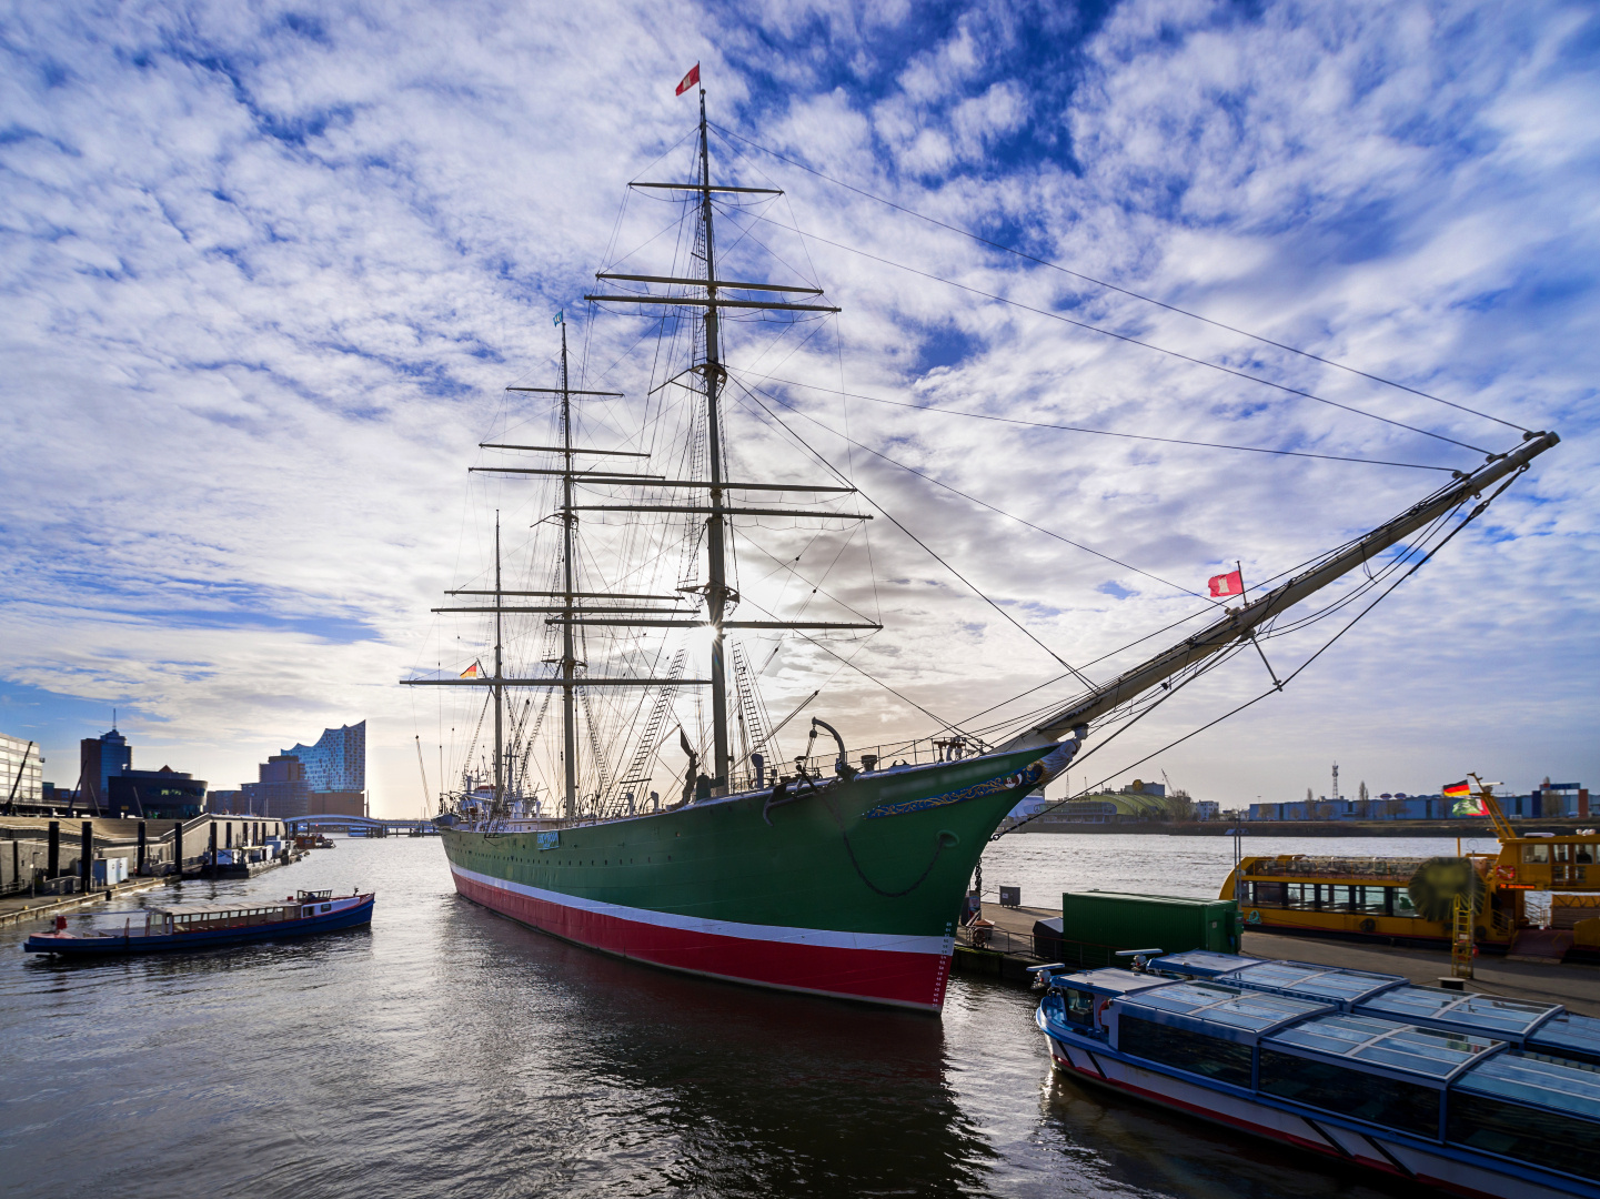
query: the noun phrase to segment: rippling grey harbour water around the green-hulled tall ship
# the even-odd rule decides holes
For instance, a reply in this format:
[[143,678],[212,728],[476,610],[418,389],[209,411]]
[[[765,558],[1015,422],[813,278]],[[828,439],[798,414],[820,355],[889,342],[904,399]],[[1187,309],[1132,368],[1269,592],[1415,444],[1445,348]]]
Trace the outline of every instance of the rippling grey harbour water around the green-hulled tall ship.
[[[1214,893],[1230,853],[1106,836],[990,852],[1040,895]],[[182,898],[355,884],[379,892],[370,930],[291,946],[56,965],[0,932],[5,1194],[1398,1194],[1053,1081],[1024,991],[957,975],[934,1020],[678,978],[458,900],[437,840],[341,840]]]

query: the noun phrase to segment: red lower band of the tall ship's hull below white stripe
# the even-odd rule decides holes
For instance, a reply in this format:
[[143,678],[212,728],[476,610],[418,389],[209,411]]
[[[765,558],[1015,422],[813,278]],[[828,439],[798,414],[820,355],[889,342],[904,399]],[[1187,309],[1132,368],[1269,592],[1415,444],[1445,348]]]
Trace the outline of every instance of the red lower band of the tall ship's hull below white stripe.
[[565,941],[731,983],[939,1012],[949,954],[850,949],[672,928],[488,887],[451,871],[477,904]]

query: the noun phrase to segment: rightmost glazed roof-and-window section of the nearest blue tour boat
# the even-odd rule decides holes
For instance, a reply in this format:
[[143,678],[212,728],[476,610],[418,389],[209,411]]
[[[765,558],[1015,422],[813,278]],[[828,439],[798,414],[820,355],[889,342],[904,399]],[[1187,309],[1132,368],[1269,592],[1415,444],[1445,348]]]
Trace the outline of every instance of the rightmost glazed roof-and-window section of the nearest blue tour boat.
[[1450,1090],[1446,1140],[1546,1165],[1600,1175],[1600,1076],[1504,1053]]

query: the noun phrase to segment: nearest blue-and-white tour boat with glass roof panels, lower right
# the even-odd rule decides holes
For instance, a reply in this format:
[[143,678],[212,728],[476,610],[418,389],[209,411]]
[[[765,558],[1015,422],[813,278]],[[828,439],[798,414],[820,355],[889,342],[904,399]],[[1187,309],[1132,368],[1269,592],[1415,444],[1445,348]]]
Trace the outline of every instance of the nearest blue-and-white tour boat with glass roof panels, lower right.
[[[1600,1199],[1600,1069],[1531,1044],[1555,1015],[1514,1042],[1472,1026],[1477,1009],[1459,1004],[1414,1004],[1418,1020],[1368,1013],[1382,996],[1403,1007],[1408,989],[1426,989],[1403,978],[1253,959],[1206,978],[1160,972],[1181,957],[1198,954],[1134,970],[1038,967],[1035,1020],[1053,1066],[1454,1194]],[[1243,984],[1256,967],[1280,967],[1272,986]],[[1438,1010],[1461,1026],[1421,1023]]]

